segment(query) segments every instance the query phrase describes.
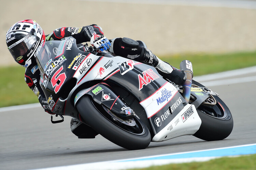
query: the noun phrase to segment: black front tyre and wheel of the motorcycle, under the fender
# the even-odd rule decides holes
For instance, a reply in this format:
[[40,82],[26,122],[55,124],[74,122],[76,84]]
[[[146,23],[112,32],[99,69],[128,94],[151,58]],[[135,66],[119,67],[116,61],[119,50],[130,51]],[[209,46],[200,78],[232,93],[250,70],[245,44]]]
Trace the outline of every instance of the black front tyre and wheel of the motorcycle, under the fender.
[[129,150],[145,149],[151,142],[149,130],[137,116],[122,120],[87,95],[77,102],[76,108],[86,124],[120,147]]

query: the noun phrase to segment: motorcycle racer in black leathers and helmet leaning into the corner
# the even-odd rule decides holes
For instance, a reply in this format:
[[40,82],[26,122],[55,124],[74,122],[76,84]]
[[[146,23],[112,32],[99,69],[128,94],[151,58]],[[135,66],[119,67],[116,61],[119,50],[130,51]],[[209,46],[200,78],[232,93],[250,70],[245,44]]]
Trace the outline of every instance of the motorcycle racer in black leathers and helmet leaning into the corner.
[[[183,70],[176,69],[170,64],[161,61],[155,54],[142,46],[142,41],[130,38],[114,38],[111,41],[104,36],[102,28],[96,24],[82,28],[62,27],[45,35],[43,29],[34,20],[22,20],[13,24],[6,33],[6,44],[15,62],[26,68],[25,81],[29,88],[37,95],[45,112],[54,114],[48,106],[48,101],[39,84],[40,71],[35,56],[48,40],[63,40],[69,36],[76,39],[77,47],[85,51],[81,43],[90,42],[97,49],[98,55],[108,50],[113,55],[119,55],[154,66],[160,75],[176,84],[183,84],[186,74]],[[86,124],[72,118],[70,122],[72,133],[78,138],[95,138],[98,134]]]

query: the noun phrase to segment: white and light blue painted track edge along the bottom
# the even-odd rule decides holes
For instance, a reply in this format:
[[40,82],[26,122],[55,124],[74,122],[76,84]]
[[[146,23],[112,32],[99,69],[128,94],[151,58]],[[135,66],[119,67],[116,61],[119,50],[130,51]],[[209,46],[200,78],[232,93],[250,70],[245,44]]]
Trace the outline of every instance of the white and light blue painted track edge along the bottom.
[[[77,164],[61,167],[43,168],[40,170],[119,170],[145,168],[173,163],[203,162],[223,156],[239,156],[256,153],[256,143],[225,148],[206,149],[199,151],[180,152],[172,154],[145,156],[131,159],[111,160],[96,163]],[[38,169],[39,170],[39,169]]]

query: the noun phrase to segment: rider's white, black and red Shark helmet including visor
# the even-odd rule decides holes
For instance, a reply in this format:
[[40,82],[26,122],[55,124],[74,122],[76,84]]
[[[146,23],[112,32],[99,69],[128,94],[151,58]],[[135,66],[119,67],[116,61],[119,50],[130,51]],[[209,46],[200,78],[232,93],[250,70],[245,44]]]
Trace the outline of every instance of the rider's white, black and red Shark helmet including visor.
[[45,43],[45,34],[34,20],[16,22],[6,33],[6,44],[15,62],[29,67]]

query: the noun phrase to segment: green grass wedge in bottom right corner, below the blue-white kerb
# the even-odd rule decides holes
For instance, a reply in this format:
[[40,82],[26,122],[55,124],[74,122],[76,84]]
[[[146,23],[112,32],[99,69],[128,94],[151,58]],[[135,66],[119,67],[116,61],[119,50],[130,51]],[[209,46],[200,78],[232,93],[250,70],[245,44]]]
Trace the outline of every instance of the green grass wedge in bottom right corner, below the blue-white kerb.
[[193,162],[184,164],[169,164],[163,166],[152,166],[132,170],[233,170],[233,169],[256,169],[256,154],[240,157],[224,157],[212,159],[207,162]]

